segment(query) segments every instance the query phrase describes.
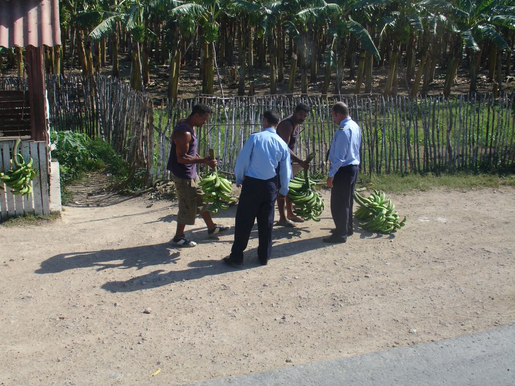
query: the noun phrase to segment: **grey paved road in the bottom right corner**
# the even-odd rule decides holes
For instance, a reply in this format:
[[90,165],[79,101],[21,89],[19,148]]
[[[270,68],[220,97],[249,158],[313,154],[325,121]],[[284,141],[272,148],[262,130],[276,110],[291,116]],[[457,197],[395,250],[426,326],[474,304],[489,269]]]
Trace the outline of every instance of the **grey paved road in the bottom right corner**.
[[515,324],[359,357],[195,383],[195,386],[515,386]]

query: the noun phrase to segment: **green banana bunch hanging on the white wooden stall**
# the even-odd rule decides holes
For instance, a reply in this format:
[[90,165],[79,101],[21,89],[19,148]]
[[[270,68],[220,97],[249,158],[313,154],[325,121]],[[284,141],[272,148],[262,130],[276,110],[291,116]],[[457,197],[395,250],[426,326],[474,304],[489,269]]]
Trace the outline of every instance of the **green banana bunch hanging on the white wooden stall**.
[[[30,181],[36,177],[38,171],[32,168],[32,157],[30,157],[29,162],[25,162],[23,155],[18,152],[18,146],[21,142],[22,140],[20,138],[16,140],[12,154],[11,168],[5,172],[0,172],[0,182],[5,183],[7,187],[11,188],[13,195],[25,195],[28,200],[32,193]],[[14,166],[16,169],[14,169]],[[3,189],[2,185],[0,185],[0,189]]]

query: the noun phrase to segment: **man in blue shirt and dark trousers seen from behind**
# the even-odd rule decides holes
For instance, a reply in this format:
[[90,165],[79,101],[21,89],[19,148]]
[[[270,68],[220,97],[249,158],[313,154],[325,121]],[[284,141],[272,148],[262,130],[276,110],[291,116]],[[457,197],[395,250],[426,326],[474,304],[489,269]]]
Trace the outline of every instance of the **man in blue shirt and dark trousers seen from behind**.
[[277,134],[279,114],[268,110],[263,113],[263,131],[253,133],[238,155],[234,172],[236,185],[242,187],[234,228],[231,254],[224,262],[231,266],[243,265],[243,251],[247,248],[254,220],[258,220],[258,258],[266,266],[272,252],[272,226],[277,198],[277,166],[281,190],[288,194],[291,176],[290,154],[286,143]]

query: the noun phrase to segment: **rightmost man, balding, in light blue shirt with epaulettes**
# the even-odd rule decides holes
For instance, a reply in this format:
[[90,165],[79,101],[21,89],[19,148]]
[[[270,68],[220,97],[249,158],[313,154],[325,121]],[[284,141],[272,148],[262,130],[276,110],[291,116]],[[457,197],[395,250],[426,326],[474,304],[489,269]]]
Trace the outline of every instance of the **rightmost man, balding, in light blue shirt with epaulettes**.
[[346,242],[353,233],[352,205],[359,168],[361,129],[349,116],[349,107],[344,102],[336,102],[331,115],[339,126],[329,150],[331,168],[327,178],[327,186],[331,188],[331,215],[336,228],[323,241],[340,243]]

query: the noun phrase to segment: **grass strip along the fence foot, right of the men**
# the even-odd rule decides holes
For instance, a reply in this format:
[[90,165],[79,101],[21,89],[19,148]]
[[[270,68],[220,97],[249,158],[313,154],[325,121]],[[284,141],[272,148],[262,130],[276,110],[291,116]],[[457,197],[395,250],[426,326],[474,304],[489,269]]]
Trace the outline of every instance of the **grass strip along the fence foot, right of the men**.
[[470,189],[472,187],[497,188],[500,186],[515,186],[515,175],[499,176],[496,174],[453,173],[453,174],[382,174],[381,176],[358,177],[357,186],[384,190],[388,193],[403,193],[409,190],[430,190],[438,187],[450,189]]

